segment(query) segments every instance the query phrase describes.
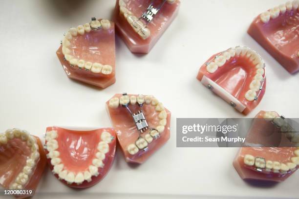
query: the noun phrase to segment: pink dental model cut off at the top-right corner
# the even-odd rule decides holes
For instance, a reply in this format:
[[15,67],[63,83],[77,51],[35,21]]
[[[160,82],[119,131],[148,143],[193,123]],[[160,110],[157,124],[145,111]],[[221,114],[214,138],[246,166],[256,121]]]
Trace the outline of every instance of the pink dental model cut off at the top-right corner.
[[299,71],[299,0],[288,1],[260,14],[248,34],[288,72]]

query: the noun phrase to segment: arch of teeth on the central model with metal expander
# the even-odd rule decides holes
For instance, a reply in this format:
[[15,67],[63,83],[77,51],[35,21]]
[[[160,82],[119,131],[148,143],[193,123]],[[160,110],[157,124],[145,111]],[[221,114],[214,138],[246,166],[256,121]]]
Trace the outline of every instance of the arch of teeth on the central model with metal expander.
[[[126,107],[128,104],[131,105],[139,104],[142,107],[144,103],[155,107],[155,110],[159,112],[158,117],[160,121],[159,121],[159,125],[156,126],[155,128],[149,128],[150,130],[149,133],[147,133],[144,137],[140,135],[139,138],[135,141],[135,143],[129,144],[127,146],[127,151],[132,156],[136,155],[140,150],[147,151],[148,145],[153,141],[153,139],[158,139],[160,137],[160,134],[164,132],[165,126],[167,124],[167,112],[165,111],[164,106],[161,102],[153,98],[153,96],[149,96],[149,95],[148,96],[143,96],[143,95],[128,96],[127,94],[124,94],[120,98],[112,98],[109,100],[109,107],[112,109],[116,109],[120,105]],[[134,114],[134,115],[139,115],[139,114],[142,114],[142,110],[141,113]],[[144,120],[146,121],[145,118]],[[142,130],[140,132],[143,133]]]

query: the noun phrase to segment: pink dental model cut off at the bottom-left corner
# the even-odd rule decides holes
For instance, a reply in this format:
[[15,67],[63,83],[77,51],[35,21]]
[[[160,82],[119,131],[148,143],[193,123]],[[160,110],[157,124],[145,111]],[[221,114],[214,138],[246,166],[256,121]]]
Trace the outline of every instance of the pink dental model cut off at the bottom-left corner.
[[34,193],[45,165],[43,144],[38,137],[16,128],[0,134],[0,185],[4,189]]

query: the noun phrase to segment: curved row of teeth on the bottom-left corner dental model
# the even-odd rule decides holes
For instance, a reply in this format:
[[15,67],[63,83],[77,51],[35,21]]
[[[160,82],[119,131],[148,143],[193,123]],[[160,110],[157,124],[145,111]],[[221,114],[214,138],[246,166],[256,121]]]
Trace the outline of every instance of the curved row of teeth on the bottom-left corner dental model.
[[5,133],[0,134],[0,144],[7,144],[11,139],[21,139],[26,142],[26,145],[30,147],[31,154],[26,160],[26,165],[22,168],[22,171],[18,174],[14,182],[9,186],[9,189],[23,189],[23,187],[29,182],[30,177],[34,173],[34,168],[40,159],[39,145],[37,139],[31,136],[27,131],[17,128],[8,129]]

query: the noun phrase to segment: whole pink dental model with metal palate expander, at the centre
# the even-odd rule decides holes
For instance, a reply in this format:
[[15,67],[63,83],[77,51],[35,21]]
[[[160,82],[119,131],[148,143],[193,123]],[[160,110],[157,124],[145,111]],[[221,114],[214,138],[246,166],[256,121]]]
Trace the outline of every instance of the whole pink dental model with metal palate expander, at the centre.
[[170,138],[171,113],[154,97],[116,94],[106,105],[127,162],[145,162]]

